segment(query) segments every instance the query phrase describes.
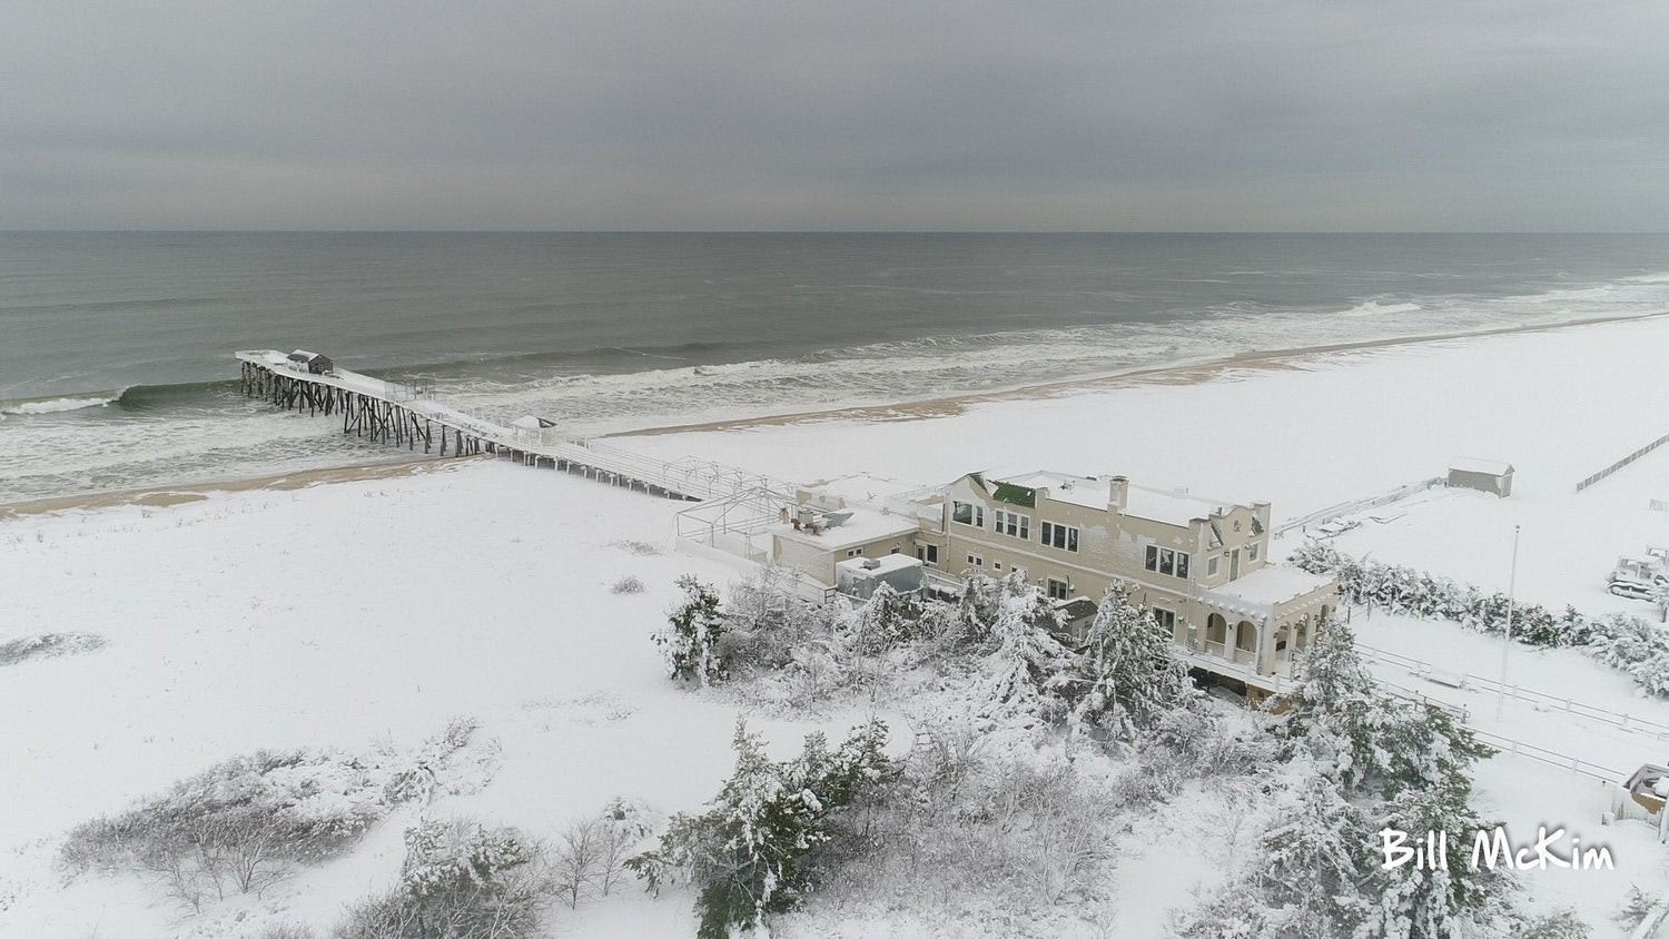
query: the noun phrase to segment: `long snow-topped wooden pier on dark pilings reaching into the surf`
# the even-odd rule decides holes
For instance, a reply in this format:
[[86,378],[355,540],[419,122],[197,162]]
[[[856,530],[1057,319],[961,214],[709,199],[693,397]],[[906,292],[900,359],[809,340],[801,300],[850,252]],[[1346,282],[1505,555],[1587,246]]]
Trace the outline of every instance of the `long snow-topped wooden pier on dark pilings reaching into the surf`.
[[[277,407],[342,417],[342,434],[439,455],[492,454],[529,467],[621,485],[664,499],[731,499],[781,482],[703,460],[663,462],[572,439],[554,427],[504,427],[434,400],[424,389],[345,369],[312,372],[272,349],[237,352],[242,390]],[[791,490],[791,487],[789,487]]]

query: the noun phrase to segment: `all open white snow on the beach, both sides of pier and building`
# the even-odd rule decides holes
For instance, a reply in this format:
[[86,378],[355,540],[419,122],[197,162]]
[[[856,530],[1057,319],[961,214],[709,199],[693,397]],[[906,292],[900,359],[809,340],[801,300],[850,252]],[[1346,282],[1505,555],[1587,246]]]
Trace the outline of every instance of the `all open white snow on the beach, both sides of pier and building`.
[[[1512,529],[1520,525],[1520,597],[1644,615],[1647,604],[1604,592],[1604,574],[1616,555],[1669,540],[1669,514],[1649,509],[1652,499],[1669,499],[1669,449],[1587,492],[1574,485],[1669,432],[1666,360],[1669,320],[1651,317],[1297,354],[1188,380],[1153,374],[940,414],[823,415],[616,442],[794,482],[870,474],[890,480],[876,487],[900,489],[968,470],[1118,472],[1155,487],[1268,500],[1277,525],[1442,475],[1457,455],[1505,460],[1517,470],[1510,499],[1434,489],[1375,510],[1382,520],[1364,519],[1339,547],[1495,590],[1507,585]],[[317,432],[332,429],[322,420]],[[416,747],[449,717],[471,716],[491,744],[459,772],[461,792],[444,796],[447,811],[541,836],[618,796],[676,812],[718,791],[729,771],[726,742],[746,707],[669,684],[648,640],[674,599],[674,577],[694,572],[723,584],[739,575],[676,550],[681,505],[504,462],[432,469],[209,492],[169,505],[60,505],[0,520],[0,642],[48,632],[103,640],[0,665],[0,711],[12,717],[0,726],[0,804],[12,807],[0,821],[0,932],[324,929],[344,904],[391,882],[399,819],[381,822],[344,859],[204,912],[182,912],[132,879],[62,886],[52,859],[65,831],[262,747]],[[1278,544],[1297,540],[1293,532]],[[626,575],[646,590],[613,592]],[[1454,635],[1442,624],[1400,634],[1387,617],[1355,625],[1364,642],[1455,670],[1497,667],[1499,642],[1459,627],[1449,627]],[[1534,655],[1542,674],[1569,675],[1561,685],[1567,697],[1669,724],[1669,702],[1639,697],[1574,650],[1514,655]],[[1502,729],[1576,721],[1512,707]],[[1490,711],[1474,707],[1482,727],[1490,727]],[[838,737],[865,717],[863,707],[818,719],[754,712],[749,726],[786,756],[809,731]],[[885,717],[895,741],[910,739],[903,714]],[[1569,724],[1564,739],[1579,741],[1581,727]],[[1602,762],[1624,759],[1629,741],[1637,742],[1636,764],[1662,761],[1662,741],[1607,737]],[[1510,754],[1479,776],[1485,804],[1509,822],[1562,822],[1612,846],[1614,872],[1525,874],[1537,901],[1574,904],[1607,936],[1621,934],[1609,914],[1631,884],[1654,896],[1669,887],[1652,832],[1637,822],[1601,827],[1609,804],[1599,784]],[[1215,879],[1200,872],[1217,856],[1208,826],[1172,836],[1175,844],[1152,852],[1165,856],[1167,869],[1193,872],[1155,882],[1130,866],[1113,897],[1115,934],[1155,934],[1168,907]],[[557,929],[688,936],[688,906],[683,892],[651,899],[628,884],[564,911]],[[878,922],[855,914],[848,924],[796,927],[789,917],[784,929],[875,934]],[[933,932],[906,914],[896,922],[900,934]],[[940,934],[956,929],[941,926]]]

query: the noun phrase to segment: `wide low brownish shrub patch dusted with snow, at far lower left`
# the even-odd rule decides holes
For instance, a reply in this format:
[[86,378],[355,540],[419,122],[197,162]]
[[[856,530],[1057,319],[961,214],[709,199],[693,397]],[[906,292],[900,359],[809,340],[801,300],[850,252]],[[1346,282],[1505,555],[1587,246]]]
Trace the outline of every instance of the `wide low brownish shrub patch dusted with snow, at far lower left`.
[[340,852],[386,811],[381,776],[355,759],[262,751],[78,826],[60,857],[73,872],[155,874],[197,909],[229,891],[260,892],[295,864]]

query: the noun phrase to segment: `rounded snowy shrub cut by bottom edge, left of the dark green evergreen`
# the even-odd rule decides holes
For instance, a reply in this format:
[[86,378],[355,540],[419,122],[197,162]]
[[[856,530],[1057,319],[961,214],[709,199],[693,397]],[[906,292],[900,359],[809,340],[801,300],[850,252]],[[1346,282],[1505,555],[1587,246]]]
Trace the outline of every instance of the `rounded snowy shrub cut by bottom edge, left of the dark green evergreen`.
[[406,831],[399,886],[350,907],[334,939],[522,939],[546,889],[539,847],[512,829],[424,821]]

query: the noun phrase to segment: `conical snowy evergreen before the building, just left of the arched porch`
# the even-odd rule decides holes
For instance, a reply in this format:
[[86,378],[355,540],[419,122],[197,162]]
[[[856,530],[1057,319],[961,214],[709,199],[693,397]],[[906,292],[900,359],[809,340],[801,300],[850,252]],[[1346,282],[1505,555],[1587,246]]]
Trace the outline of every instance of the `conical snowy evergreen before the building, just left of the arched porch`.
[[1102,597],[1071,672],[1073,729],[1100,726],[1120,741],[1133,741],[1162,712],[1195,697],[1170,634],[1120,589]]

